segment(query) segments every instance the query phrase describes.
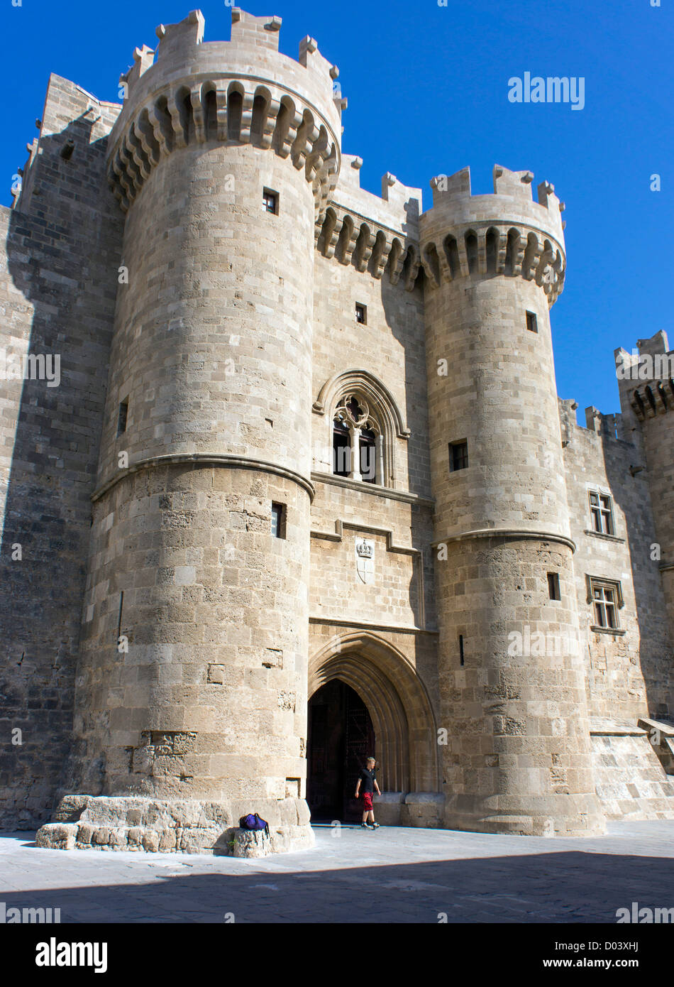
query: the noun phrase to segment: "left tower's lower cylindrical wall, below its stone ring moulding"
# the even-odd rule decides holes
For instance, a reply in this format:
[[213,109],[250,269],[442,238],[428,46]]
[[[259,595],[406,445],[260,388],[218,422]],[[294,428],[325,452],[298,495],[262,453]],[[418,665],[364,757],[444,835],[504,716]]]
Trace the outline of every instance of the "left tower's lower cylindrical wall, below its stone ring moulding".
[[167,465],[96,501],[79,791],[221,800],[236,819],[303,795],[308,500],[262,470]]

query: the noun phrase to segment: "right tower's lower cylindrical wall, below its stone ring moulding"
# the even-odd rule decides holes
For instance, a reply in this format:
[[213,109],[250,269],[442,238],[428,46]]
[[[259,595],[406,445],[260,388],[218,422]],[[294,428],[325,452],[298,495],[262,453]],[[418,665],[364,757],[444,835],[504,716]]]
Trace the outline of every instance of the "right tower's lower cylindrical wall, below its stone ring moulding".
[[[521,538],[460,541],[437,569],[445,825],[595,830],[584,681],[566,645],[577,639],[569,551]],[[548,597],[550,570],[560,573],[561,601]],[[508,650],[512,632],[524,653]]]

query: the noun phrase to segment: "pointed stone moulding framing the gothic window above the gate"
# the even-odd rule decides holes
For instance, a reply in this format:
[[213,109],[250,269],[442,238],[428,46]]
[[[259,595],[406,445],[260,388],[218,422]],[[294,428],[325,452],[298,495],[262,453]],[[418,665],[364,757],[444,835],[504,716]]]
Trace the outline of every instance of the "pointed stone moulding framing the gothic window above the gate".
[[325,382],[314,402],[312,411],[323,415],[325,421],[325,447],[333,448],[333,415],[337,405],[348,394],[358,395],[367,403],[370,414],[381,428],[384,451],[384,487],[396,489],[397,456],[396,440],[410,438],[410,429],[400,407],[389,389],[378,377],[367,370],[350,369],[335,374]]

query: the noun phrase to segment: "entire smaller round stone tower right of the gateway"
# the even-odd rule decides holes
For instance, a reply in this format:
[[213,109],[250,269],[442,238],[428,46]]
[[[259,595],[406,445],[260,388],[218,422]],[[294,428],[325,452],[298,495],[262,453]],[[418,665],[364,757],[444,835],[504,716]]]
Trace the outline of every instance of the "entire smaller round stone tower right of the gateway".
[[[444,824],[601,831],[562,468],[549,306],[561,205],[532,175],[468,169],[420,217]],[[442,737],[440,737],[442,744]]]

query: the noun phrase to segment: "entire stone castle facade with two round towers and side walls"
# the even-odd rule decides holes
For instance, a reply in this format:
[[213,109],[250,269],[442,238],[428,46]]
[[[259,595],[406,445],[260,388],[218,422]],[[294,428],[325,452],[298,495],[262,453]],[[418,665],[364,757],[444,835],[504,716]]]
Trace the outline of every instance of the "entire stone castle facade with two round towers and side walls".
[[673,817],[672,375],[620,353],[579,426],[553,186],[361,190],[279,28],[161,25],[119,104],[52,75],[0,211],[0,824],[307,846],[372,746],[382,822]]

